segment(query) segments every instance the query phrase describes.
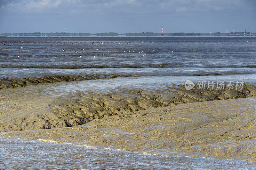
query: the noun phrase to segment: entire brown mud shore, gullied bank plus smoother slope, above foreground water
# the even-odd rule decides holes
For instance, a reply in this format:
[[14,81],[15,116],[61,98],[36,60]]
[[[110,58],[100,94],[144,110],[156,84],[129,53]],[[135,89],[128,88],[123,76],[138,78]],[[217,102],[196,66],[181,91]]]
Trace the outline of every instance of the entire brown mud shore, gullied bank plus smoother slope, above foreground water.
[[0,90],[1,136],[256,161],[252,85],[72,95],[56,95],[43,86],[48,85]]

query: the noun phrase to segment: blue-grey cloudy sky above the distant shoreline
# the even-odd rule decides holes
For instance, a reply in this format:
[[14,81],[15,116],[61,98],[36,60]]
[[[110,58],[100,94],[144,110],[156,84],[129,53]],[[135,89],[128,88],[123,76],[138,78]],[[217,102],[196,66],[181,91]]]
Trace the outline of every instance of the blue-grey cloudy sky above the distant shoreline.
[[256,0],[0,0],[0,33],[256,32]]

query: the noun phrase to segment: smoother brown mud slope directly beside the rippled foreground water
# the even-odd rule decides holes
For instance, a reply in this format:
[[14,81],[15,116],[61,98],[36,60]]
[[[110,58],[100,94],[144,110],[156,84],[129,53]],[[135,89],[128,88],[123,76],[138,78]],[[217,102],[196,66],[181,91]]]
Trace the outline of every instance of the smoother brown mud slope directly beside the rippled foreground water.
[[184,103],[107,116],[76,127],[1,135],[255,162],[255,102],[255,97],[249,97]]

